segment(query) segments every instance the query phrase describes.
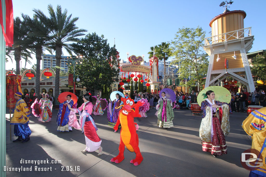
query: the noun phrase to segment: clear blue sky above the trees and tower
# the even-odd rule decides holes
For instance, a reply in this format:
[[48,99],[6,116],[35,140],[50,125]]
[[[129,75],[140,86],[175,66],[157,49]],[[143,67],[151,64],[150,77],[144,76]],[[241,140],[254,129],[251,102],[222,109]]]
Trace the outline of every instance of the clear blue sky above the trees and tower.
[[[266,49],[266,1],[233,1],[234,3],[228,9],[245,11],[247,16],[244,19],[244,28],[252,27],[255,40],[249,52]],[[189,28],[200,26],[206,31],[206,37],[211,36],[209,23],[215,16],[223,13],[223,7],[219,7],[221,2],[222,0],[13,0],[13,10],[14,17],[21,17],[21,13],[32,17],[34,8],[42,10],[49,16],[47,10],[49,3],[54,9],[57,5],[61,5],[63,9],[68,10],[68,15],[79,17],[77,27],[87,29],[87,33],[96,32],[99,36],[103,34],[110,46],[114,45],[115,38],[115,45],[121,59],[126,60],[126,52],[129,52],[129,55],[136,56],[144,54],[144,60],[148,61],[147,53],[150,47],[173,40],[178,28],[183,26]],[[66,51],[63,52],[64,55],[68,55]],[[48,52],[45,53],[48,54]],[[32,63],[36,63],[35,59]],[[22,61],[22,66],[24,64]],[[10,63],[6,64],[7,69],[13,66]],[[27,68],[30,67],[27,65]]]

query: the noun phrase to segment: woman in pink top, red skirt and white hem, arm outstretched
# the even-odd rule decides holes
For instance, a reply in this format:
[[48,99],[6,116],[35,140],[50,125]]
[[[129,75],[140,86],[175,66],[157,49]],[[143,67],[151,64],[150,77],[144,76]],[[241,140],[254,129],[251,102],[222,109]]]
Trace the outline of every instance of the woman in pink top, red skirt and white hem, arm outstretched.
[[94,152],[95,150],[99,149],[98,156],[102,155],[102,140],[97,135],[96,131],[98,128],[96,127],[93,117],[92,117],[92,96],[90,93],[86,93],[83,95],[83,101],[84,103],[78,108],[73,109],[70,105],[68,105],[68,108],[75,113],[80,114],[80,125],[82,132],[84,132],[85,140],[86,140],[86,148],[84,150],[81,150],[82,153],[88,152]]

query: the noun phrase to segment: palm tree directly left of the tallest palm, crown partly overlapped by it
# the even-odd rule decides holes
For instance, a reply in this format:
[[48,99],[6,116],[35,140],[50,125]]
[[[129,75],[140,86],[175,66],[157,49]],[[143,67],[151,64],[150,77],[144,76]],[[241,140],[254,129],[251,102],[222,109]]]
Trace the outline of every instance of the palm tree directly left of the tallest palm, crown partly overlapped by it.
[[[31,19],[28,15],[22,14],[27,27],[30,29],[28,34],[30,40],[30,49],[34,51],[36,56],[36,90],[35,93],[39,96],[40,93],[40,63],[43,50],[47,50],[52,54],[49,48],[50,29],[42,23],[36,15]],[[26,66],[26,65],[25,65]]]

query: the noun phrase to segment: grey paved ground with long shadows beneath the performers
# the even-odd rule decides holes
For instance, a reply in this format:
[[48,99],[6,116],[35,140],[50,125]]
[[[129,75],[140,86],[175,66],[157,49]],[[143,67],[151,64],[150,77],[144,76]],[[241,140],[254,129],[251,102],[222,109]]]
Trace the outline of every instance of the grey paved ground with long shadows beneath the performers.
[[[84,134],[80,130],[56,131],[57,110],[52,111],[52,120],[47,123],[31,116],[31,140],[13,143],[7,111],[6,165],[32,167],[32,171],[7,171],[7,176],[248,176],[249,171],[240,164],[241,153],[251,148],[251,140],[241,127],[246,114],[230,115],[231,130],[226,137],[228,154],[214,158],[201,148],[200,115],[193,116],[190,110],[174,110],[174,127],[166,130],[157,127],[155,111],[152,109],[147,113],[147,118],[135,118],[139,125],[139,148],[144,158],[139,166],[130,163],[135,153],[128,150],[125,150],[125,159],[121,163],[110,162],[119,153],[120,131],[114,132],[107,126],[106,111],[103,116],[94,116],[99,129],[97,133],[102,139],[102,156],[97,156],[98,152],[80,152],[85,148]],[[13,129],[11,126],[11,138],[15,140]],[[23,159],[46,162],[48,159],[48,164],[26,164]],[[52,171],[35,171],[35,168]]]

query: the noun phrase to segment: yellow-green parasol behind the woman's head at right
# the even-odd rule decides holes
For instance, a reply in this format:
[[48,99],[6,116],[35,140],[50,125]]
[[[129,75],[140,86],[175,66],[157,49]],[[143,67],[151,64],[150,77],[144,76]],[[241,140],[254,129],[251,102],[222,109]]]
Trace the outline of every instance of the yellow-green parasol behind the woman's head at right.
[[212,90],[215,93],[214,100],[229,103],[231,100],[231,93],[224,87],[221,86],[210,86],[200,91],[197,97],[198,104],[201,105],[201,102],[206,98],[202,96],[203,93],[206,93],[208,90]]

